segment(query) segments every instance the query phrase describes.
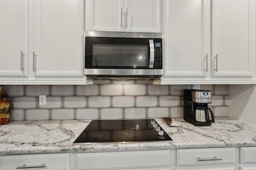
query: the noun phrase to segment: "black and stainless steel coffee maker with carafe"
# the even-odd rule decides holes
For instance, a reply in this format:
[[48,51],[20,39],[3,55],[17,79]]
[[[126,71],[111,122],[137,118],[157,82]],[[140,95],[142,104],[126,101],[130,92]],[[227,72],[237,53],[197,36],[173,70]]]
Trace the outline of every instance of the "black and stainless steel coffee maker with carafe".
[[[214,123],[212,109],[208,107],[212,103],[210,90],[184,90],[184,120],[196,126],[210,126]],[[210,116],[211,115],[211,119]]]

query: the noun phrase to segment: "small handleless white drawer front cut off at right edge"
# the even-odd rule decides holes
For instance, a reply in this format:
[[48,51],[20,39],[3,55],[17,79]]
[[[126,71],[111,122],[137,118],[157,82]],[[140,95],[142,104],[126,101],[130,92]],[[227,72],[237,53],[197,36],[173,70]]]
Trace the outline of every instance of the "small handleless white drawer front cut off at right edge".
[[241,147],[240,163],[256,163],[256,147]]

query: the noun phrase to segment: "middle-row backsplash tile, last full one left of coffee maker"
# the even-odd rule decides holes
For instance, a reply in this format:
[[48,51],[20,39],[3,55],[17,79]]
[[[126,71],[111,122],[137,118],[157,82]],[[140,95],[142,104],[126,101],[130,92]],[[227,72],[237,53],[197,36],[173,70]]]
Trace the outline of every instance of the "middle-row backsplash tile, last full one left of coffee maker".
[[180,96],[160,96],[159,107],[180,106]]

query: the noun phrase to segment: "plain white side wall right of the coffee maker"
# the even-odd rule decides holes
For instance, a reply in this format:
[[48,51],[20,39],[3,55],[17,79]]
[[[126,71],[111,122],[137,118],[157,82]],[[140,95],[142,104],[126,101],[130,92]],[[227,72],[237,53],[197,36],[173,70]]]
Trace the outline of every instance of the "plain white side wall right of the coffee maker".
[[256,125],[256,85],[230,85],[230,117]]

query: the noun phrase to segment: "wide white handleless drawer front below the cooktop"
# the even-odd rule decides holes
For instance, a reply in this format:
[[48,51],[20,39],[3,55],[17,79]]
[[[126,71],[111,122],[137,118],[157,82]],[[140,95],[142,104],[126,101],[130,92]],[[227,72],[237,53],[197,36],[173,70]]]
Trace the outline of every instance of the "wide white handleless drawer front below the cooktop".
[[[170,150],[76,154],[77,170],[154,168],[170,166]],[[169,168],[168,168],[169,169]]]

